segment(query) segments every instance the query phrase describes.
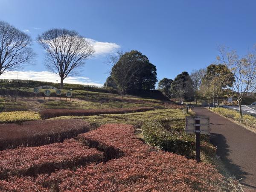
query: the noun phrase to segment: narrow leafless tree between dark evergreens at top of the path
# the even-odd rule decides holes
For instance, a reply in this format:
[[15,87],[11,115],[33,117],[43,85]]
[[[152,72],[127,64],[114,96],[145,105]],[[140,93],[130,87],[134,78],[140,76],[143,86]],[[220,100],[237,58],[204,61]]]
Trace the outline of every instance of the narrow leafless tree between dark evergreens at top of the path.
[[206,69],[193,70],[192,73],[190,74],[190,78],[193,81],[193,88],[195,91],[195,104],[197,104],[198,95],[199,95],[198,91],[202,84],[202,80],[205,74],[206,74]]

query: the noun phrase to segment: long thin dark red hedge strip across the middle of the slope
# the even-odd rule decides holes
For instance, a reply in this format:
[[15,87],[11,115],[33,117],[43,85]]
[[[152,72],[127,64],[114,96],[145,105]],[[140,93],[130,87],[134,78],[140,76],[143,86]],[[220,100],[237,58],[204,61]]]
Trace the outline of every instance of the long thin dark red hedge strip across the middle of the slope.
[[99,114],[122,114],[154,110],[152,107],[140,108],[112,108],[112,109],[46,109],[40,111],[42,119],[49,119],[57,116],[89,116]]

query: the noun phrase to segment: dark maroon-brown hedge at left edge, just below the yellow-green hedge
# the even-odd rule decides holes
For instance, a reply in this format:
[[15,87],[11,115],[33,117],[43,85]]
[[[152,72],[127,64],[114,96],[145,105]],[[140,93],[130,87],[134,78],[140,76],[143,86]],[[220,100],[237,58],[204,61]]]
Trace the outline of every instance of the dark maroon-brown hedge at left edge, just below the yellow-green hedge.
[[63,142],[90,130],[81,119],[38,120],[18,124],[0,124],[0,150]]

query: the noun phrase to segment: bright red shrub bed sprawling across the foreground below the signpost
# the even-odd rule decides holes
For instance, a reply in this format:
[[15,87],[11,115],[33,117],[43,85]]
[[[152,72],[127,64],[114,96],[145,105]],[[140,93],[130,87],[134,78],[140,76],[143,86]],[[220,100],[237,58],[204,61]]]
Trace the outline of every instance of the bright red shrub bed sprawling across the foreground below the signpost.
[[[103,125],[79,136],[99,149],[113,148],[123,156],[106,163],[90,164],[76,171],[59,170],[51,175],[11,178],[0,189],[31,183],[55,191],[219,191],[223,177],[211,165],[158,151],[134,136],[131,125]],[[217,187],[218,186],[218,187]],[[22,184],[18,188],[23,189]]]

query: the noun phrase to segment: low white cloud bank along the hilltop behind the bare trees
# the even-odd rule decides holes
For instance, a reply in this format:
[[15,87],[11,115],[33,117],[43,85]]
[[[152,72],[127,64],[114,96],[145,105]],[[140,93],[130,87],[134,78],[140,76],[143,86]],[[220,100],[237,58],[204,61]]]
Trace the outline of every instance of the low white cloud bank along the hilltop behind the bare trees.
[[[61,81],[60,77],[52,72],[49,71],[9,71],[6,73],[3,73],[0,76],[0,79],[17,79],[17,73],[18,73],[18,79],[30,79],[35,81],[48,81],[48,82],[56,82],[58,80],[58,83]],[[72,83],[72,84],[87,84],[88,85],[96,85],[96,86],[103,86],[103,84],[99,84],[96,82],[92,82],[87,77],[67,77],[64,79],[65,83]]]

